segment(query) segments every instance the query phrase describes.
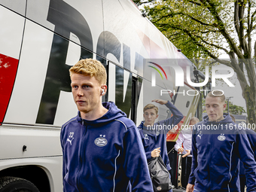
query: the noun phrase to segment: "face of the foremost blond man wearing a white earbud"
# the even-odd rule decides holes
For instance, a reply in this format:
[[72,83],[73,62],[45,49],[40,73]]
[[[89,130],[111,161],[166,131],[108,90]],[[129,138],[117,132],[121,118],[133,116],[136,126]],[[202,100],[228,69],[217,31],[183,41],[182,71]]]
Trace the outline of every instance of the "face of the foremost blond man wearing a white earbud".
[[102,86],[95,77],[72,74],[72,94],[78,111],[87,114],[99,108],[102,103]]

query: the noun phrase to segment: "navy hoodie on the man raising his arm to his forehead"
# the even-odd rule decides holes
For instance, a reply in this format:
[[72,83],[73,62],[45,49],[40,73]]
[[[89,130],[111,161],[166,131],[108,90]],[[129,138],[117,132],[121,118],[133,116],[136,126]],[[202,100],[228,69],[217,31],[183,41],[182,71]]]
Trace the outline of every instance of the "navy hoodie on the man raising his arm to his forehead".
[[154,123],[151,130],[144,125],[145,121],[142,121],[142,123],[140,123],[138,126],[138,129],[142,137],[142,143],[147,160],[151,160],[152,158],[151,151],[153,151],[155,148],[160,148],[160,156],[163,158],[163,162],[166,164],[166,167],[169,170],[171,167],[169,166],[169,158],[167,155],[166,133],[169,131],[169,128],[174,127],[182,120],[183,114],[181,114],[181,112],[178,111],[178,108],[176,108],[175,105],[169,101],[166,103],[166,107],[172,111],[172,117]]

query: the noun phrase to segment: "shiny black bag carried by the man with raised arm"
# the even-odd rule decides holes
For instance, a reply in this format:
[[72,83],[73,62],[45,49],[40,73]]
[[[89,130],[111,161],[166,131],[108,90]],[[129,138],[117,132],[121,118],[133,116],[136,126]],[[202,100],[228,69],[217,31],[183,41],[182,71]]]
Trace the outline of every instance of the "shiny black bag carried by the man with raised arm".
[[172,181],[169,172],[163,163],[162,157],[154,157],[148,161],[148,169],[154,191],[168,191],[172,189]]

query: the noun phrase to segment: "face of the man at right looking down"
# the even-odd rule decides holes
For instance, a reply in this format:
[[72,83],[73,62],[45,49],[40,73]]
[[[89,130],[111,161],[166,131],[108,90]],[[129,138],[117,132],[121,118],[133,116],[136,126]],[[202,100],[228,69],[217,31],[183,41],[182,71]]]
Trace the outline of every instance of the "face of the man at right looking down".
[[209,121],[218,120],[220,117],[223,117],[223,111],[226,108],[227,104],[221,102],[220,97],[206,96],[206,112],[209,117]]

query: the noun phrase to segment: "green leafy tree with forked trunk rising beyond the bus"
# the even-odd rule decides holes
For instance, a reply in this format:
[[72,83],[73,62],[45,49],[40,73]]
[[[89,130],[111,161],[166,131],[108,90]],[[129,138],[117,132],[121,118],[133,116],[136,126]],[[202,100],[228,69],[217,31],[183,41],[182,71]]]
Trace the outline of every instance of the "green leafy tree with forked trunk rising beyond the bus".
[[[148,19],[192,59],[212,58],[234,69],[256,122],[256,0],[157,0],[144,5]],[[226,53],[229,59],[220,59]]]

